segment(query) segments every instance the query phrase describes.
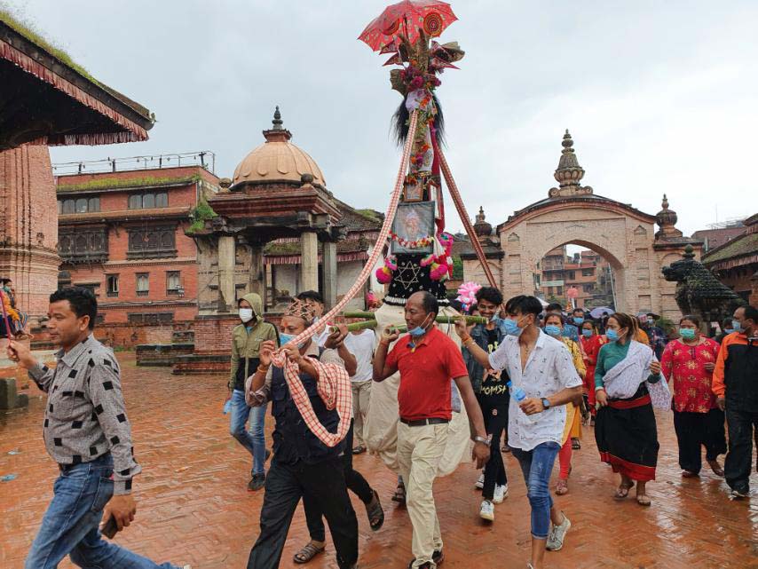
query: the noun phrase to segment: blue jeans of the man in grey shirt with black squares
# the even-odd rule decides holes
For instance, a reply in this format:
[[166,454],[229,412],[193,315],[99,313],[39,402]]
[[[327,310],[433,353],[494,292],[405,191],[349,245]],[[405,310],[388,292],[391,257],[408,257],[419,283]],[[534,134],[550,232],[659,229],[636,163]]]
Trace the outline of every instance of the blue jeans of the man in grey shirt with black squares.
[[67,555],[75,565],[87,569],[178,569],[170,563],[157,565],[103,540],[98,526],[113,495],[111,474],[113,459],[105,454],[59,476],[25,569],[54,569]]

